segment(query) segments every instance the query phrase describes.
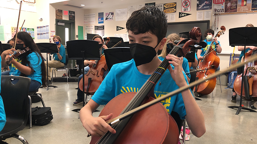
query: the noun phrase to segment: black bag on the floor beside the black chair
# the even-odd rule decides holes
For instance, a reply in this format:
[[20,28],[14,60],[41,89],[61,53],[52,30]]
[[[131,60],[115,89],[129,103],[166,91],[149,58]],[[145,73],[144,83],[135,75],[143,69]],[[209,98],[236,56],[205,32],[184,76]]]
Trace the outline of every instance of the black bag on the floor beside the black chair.
[[51,107],[32,108],[32,125],[47,125],[52,119]]

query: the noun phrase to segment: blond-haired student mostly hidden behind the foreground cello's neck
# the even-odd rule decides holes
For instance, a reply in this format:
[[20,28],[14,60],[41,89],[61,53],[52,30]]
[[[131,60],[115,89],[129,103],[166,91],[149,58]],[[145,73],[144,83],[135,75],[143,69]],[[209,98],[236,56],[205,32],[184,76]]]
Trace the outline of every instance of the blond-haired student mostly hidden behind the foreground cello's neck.
[[[172,43],[173,45],[176,45],[174,43],[175,40],[180,40],[180,37],[179,35],[177,35],[176,33],[171,33],[167,36],[167,40],[166,40],[166,43],[164,44],[163,48],[162,48],[162,53],[160,55],[158,55],[158,58],[163,61],[164,58],[168,55],[168,52],[167,52],[167,44],[168,43]],[[180,62],[182,63],[182,70],[185,72],[185,73],[188,73],[189,72],[189,65],[188,65],[188,60],[186,58],[183,58],[181,57],[180,58]],[[187,75],[187,80],[188,82],[190,81],[190,77],[191,75],[188,73]]]

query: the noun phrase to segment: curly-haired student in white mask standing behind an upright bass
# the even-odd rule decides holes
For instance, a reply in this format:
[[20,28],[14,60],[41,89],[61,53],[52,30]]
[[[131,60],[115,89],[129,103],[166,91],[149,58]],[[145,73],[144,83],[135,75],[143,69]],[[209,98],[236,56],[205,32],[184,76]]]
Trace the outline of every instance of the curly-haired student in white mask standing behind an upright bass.
[[[222,48],[220,46],[219,41],[217,40],[217,37],[214,37],[214,30],[212,30],[212,29],[206,30],[204,33],[204,37],[206,37],[206,39],[204,41],[207,43],[207,46],[197,51],[197,59],[199,61],[204,58],[203,56],[204,56],[205,52],[207,51],[208,47],[210,46],[212,40],[214,40],[214,43],[212,44],[212,49],[214,49],[216,51],[216,54],[221,53],[221,51],[222,51]],[[217,70],[219,70],[219,67],[216,69],[216,71]]]

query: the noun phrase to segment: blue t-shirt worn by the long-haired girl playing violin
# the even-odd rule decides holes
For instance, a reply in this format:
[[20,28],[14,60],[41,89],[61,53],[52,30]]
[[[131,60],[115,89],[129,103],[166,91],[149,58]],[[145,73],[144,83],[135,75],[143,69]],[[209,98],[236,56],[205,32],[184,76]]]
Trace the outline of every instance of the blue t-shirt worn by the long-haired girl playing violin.
[[[41,72],[42,58],[40,57],[39,54],[37,55],[35,52],[28,54],[26,58],[30,62],[30,66],[33,68],[32,74],[28,75],[27,77],[32,80],[38,81],[42,85],[42,72]],[[17,58],[15,60],[21,64],[22,60],[20,60],[20,58]],[[28,66],[28,64],[26,66]],[[13,64],[10,65],[9,68],[10,68],[10,72],[9,72],[10,75],[20,76],[21,72]]]

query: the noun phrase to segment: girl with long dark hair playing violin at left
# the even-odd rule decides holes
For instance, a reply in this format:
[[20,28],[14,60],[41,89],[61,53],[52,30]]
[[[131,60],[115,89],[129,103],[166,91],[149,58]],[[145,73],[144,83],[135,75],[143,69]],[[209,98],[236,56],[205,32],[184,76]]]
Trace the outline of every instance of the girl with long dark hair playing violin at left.
[[[15,37],[15,36],[14,36]],[[27,32],[19,32],[17,35],[17,44],[23,44],[23,47],[29,47],[30,51],[24,53],[20,58],[10,61],[9,73],[3,72],[3,75],[24,76],[31,79],[29,92],[38,90],[41,85],[46,86],[46,67],[43,62],[43,56],[35,44],[32,37]],[[6,60],[13,54],[14,48],[3,51],[2,67],[6,67]],[[16,80],[13,81],[15,83]]]

